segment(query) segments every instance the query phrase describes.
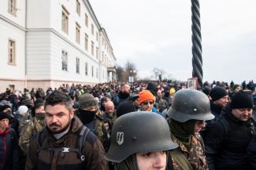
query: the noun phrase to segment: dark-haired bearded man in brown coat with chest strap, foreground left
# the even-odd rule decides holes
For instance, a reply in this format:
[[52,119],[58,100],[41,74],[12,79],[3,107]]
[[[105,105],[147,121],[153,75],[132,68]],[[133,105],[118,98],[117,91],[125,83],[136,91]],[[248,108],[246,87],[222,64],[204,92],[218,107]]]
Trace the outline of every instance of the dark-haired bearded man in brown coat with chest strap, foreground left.
[[107,170],[102,143],[74,115],[69,95],[54,91],[44,106],[46,128],[32,138],[26,170]]

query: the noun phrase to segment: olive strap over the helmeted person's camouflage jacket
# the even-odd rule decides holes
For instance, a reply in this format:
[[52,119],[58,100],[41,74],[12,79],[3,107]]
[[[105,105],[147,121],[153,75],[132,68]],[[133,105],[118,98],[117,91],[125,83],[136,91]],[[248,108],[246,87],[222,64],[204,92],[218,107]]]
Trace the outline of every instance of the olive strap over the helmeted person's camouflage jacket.
[[193,170],[191,164],[187,160],[184,154],[181,153],[179,148],[170,150],[173,159],[180,165],[183,170]]

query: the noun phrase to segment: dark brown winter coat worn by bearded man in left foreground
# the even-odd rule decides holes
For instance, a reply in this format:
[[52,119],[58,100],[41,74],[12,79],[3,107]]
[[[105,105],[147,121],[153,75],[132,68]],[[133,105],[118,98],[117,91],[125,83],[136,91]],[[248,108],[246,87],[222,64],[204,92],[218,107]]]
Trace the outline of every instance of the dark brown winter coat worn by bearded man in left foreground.
[[81,128],[83,124],[77,117],[72,119],[69,132],[60,139],[55,139],[49,128],[44,128],[40,136],[32,138],[26,170],[108,170],[102,143],[91,131],[87,133],[82,149],[84,161],[77,152],[71,151],[77,148],[76,140]]

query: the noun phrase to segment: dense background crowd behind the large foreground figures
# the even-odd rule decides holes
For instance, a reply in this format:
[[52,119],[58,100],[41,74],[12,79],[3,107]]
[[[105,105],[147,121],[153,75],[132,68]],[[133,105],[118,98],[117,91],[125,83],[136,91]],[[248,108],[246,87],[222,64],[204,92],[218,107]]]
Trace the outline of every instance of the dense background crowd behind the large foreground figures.
[[[228,96],[226,103],[239,90],[250,92],[254,98],[254,110],[256,110],[255,87],[253,81],[248,83],[243,81],[241,84],[235,84],[233,81],[230,83],[206,81],[200,90],[209,96],[212,102]],[[70,96],[76,116],[80,118],[83,125],[87,125],[91,132],[95,133],[107,151],[110,145],[111,130],[118,117],[132,111],[151,111],[168,118],[167,112],[172,105],[173,96],[180,89],[186,88],[186,82],[138,81],[132,84],[110,82],[97,85],[61,85],[58,89],[49,88],[46,91],[24,89],[20,92],[6,89],[6,92],[0,94],[0,119],[9,119],[8,125],[3,123],[0,127],[0,147],[5,148],[1,150],[3,153],[0,153],[2,158],[0,169],[3,167],[6,170],[24,169],[30,140],[46,125],[44,122],[45,99],[56,90]],[[213,113],[213,110],[211,111]],[[214,116],[217,118],[218,114],[215,113]],[[213,121],[208,122],[209,125],[213,123]],[[2,132],[2,129],[5,131]],[[9,136],[4,140],[3,136],[8,134]],[[12,150],[13,154],[10,154],[9,150]],[[111,164],[109,168],[112,168]]]

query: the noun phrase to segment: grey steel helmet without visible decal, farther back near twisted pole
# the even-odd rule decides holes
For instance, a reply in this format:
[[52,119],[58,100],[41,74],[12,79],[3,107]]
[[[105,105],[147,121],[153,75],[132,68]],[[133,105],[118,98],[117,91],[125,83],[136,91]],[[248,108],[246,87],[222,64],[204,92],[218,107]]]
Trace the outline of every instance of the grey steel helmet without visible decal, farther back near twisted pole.
[[210,99],[205,93],[195,89],[181,89],[176,92],[168,115],[179,122],[192,119],[208,121],[214,118],[210,112]]

